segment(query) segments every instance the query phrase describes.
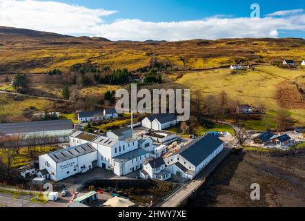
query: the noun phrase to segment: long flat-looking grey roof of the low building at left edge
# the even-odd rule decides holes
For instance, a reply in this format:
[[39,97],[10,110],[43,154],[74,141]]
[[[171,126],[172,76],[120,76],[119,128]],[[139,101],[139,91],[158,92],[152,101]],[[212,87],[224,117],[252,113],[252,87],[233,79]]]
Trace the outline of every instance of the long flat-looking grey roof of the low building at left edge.
[[0,124],[0,134],[39,133],[43,131],[63,130],[73,130],[71,119]]

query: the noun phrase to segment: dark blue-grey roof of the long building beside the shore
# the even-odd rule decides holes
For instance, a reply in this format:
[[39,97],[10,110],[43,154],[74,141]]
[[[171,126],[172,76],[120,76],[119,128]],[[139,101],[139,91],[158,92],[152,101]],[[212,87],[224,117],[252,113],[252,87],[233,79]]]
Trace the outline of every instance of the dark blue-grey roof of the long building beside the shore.
[[219,138],[208,134],[186,145],[186,150],[180,155],[194,166],[198,166],[223,143]]

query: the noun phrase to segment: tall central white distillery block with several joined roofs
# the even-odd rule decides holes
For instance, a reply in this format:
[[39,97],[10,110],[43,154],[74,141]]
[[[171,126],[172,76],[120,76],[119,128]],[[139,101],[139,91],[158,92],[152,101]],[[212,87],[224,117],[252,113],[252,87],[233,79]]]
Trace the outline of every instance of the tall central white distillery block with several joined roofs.
[[129,127],[108,131],[106,135],[83,131],[70,135],[70,146],[86,143],[97,150],[98,166],[116,175],[127,175],[141,169],[144,160],[149,157],[148,151],[153,148],[151,139],[133,138]]

